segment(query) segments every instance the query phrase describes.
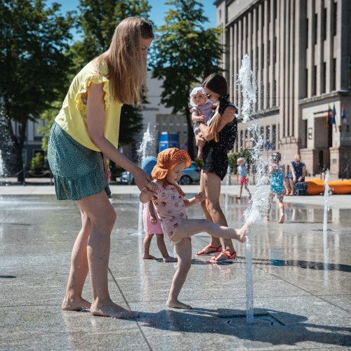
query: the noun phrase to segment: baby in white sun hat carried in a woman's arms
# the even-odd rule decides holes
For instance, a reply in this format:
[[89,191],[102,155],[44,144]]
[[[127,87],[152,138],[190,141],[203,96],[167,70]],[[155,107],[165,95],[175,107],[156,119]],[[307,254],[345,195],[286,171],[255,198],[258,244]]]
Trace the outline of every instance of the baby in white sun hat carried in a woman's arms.
[[[196,136],[200,133],[199,124],[207,124],[213,116],[213,109],[216,107],[210,100],[208,100],[208,98],[206,98],[202,86],[197,86],[192,89],[192,92],[190,93],[190,105],[192,105],[190,112],[192,112],[192,123],[194,123],[194,134]],[[202,159],[202,146],[199,146],[197,158]]]

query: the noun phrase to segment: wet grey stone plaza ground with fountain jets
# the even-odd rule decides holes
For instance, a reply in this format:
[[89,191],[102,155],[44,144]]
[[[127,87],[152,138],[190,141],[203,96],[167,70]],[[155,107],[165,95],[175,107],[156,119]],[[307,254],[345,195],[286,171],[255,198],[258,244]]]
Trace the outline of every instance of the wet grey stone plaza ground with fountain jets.
[[[198,185],[184,187],[187,194]],[[239,227],[248,205],[238,187],[223,186],[227,220]],[[246,324],[245,245],[237,262],[193,256],[180,293],[190,311],[165,306],[173,263],[142,260],[138,190],[112,187],[117,224],[112,232],[110,293],[137,311],[135,320],[62,312],[79,209],[56,201],[53,187],[0,187],[0,350],[350,350],[351,196],[332,196],[326,241],[323,197],[287,197],[286,222],[276,213],[254,225],[253,304]],[[190,218],[202,218],[199,206]],[[208,243],[192,238],[193,252]],[[325,245],[326,243],[326,245]],[[168,246],[173,254],[173,248]],[[151,253],[160,257],[156,239]],[[91,298],[89,282],[84,291]]]

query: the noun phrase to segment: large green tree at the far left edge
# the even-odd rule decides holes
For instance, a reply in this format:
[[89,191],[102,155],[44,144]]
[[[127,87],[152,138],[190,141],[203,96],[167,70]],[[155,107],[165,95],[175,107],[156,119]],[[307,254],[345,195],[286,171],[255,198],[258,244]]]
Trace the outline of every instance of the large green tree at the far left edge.
[[[12,150],[2,154],[8,173],[22,168],[22,148],[27,121],[37,120],[48,102],[65,87],[69,58],[65,51],[72,35],[72,17],[58,14],[60,5],[47,7],[41,0],[4,0],[0,5],[0,149],[4,143]],[[19,136],[12,121],[19,124]],[[15,161],[8,154],[15,154]]]

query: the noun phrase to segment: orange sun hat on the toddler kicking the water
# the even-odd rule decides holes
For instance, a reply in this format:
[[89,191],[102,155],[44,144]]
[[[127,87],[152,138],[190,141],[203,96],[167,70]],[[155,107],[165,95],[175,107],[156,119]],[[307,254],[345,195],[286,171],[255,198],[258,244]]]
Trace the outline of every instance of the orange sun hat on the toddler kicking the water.
[[157,164],[152,170],[151,176],[155,179],[164,179],[168,171],[171,171],[177,164],[185,162],[185,168],[188,168],[192,162],[189,154],[178,147],[171,147],[161,151],[157,156]]

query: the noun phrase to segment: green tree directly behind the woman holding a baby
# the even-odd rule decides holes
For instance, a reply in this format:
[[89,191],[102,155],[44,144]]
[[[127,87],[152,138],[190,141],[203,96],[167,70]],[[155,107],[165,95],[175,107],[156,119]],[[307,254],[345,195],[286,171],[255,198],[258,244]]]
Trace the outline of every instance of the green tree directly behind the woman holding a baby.
[[221,72],[224,46],[221,29],[204,28],[208,18],[196,0],[171,0],[165,23],[159,28],[152,61],[152,77],[163,80],[161,102],[187,119],[187,147],[194,158],[194,134],[189,107],[190,89],[208,74]]

